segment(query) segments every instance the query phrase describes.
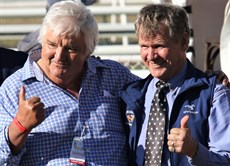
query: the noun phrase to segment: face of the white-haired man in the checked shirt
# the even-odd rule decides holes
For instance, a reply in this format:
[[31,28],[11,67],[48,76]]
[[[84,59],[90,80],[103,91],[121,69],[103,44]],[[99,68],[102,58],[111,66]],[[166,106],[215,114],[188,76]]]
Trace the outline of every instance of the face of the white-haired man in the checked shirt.
[[47,31],[42,43],[42,57],[39,62],[46,75],[55,83],[75,80],[81,75],[86,59],[84,37],[66,38]]

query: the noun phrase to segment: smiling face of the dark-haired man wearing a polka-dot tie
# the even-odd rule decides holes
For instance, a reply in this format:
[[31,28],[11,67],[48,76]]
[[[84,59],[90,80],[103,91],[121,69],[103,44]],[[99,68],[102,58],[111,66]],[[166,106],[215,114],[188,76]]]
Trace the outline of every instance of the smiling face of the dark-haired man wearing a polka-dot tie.
[[140,33],[141,58],[153,77],[168,81],[181,70],[186,61],[187,37],[185,34],[180,41],[173,41],[167,33],[151,38],[142,38]]

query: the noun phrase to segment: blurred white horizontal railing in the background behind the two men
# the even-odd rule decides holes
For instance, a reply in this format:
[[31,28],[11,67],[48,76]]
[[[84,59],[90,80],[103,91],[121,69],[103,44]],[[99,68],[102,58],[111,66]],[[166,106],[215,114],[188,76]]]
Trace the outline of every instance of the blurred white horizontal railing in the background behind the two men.
[[[94,54],[102,59],[113,59],[132,69],[141,77],[148,73],[143,66],[139,46],[134,32],[134,20],[144,4],[151,0],[98,0],[102,5],[88,6],[98,19],[99,45]],[[46,13],[46,1],[12,2],[0,1],[0,18],[43,18]],[[132,18],[131,20],[129,18]],[[20,40],[26,34],[40,28],[38,23],[0,24],[0,40]],[[106,42],[104,42],[106,41]],[[192,38],[190,40],[192,44]],[[188,54],[188,58],[192,55]],[[131,65],[131,66],[130,66]],[[136,70],[138,69],[138,70]]]

